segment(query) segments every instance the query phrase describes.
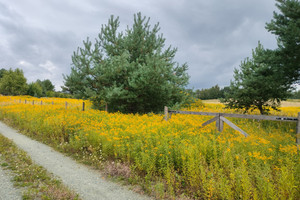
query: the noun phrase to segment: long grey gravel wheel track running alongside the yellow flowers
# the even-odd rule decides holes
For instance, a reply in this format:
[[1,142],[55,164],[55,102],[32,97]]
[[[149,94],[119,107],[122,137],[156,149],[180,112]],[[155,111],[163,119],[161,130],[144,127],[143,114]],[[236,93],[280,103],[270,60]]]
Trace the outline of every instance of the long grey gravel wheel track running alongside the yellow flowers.
[[136,194],[126,187],[104,180],[98,171],[78,164],[49,146],[19,134],[2,122],[0,122],[0,133],[26,151],[34,162],[58,176],[66,186],[73,189],[82,199],[150,199]]

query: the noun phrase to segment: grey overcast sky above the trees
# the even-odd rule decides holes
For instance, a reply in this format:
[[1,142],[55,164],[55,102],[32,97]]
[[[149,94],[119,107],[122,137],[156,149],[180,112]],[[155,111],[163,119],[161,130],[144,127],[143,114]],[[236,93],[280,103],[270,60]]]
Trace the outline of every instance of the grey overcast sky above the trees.
[[0,68],[21,68],[28,82],[50,79],[60,90],[83,40],[94,40],[110,15],[126,27],[141,12],[178,48],[189,88],[223,87],[258,41],[276,48],[265,29],[275,10],[275,0],[0,0]]

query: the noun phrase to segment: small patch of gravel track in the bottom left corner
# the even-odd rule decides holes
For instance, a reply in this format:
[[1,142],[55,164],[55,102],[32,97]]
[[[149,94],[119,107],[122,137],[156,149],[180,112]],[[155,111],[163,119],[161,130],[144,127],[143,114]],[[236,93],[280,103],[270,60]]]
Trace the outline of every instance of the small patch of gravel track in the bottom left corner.
[[12,183],[12,176],[0,167],[0,200],[21,200],[22,192]]

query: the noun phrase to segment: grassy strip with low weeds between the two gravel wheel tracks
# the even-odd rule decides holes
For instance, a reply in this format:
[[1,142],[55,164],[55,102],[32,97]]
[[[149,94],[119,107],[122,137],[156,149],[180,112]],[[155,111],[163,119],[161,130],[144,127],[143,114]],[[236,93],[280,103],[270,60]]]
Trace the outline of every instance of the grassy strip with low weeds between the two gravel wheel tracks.
[[24,187],[23,199],[79,199],[30,157],[0,134],[0,165],[13,172],[14,185]]

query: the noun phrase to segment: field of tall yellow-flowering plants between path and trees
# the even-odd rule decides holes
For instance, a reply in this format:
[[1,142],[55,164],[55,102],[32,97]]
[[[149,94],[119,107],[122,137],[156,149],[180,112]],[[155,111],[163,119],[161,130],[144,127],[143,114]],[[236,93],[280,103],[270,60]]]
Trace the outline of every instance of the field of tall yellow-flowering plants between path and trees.
[[[114,163],[112,174],[143,180],[157,198],[300,199],[296,123],[231,118],[250,135],[245,138],[226,124],[222,133],[214,124],[201,127],[209,116],[164,121],[162,114],[82,111],[82,102],[1,96],[0,119],[93,166]],[[186,110],[233,112],[201,101]],[[298,112],[283,107],[272,115]]]

